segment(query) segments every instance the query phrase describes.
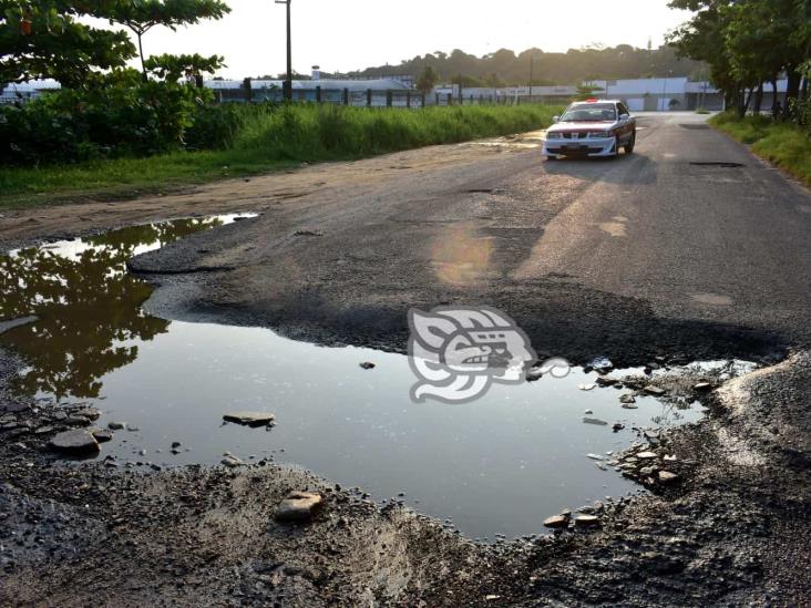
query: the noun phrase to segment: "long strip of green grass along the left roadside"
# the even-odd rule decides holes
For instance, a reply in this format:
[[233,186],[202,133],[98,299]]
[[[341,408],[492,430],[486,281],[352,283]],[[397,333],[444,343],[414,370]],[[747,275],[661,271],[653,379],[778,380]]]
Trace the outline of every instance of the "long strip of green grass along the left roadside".
[[296,105],[246,112],[228,150],[0,169],[0,208],[112,199],[298,166],[547,126],[546,105],[365,109]]

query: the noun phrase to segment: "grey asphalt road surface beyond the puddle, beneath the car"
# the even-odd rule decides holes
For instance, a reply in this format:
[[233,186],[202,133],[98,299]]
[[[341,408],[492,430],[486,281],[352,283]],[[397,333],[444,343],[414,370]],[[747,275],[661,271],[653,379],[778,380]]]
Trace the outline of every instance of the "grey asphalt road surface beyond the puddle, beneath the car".
[[[258,219],[133,268],[164,286],[150,302],[163,316],[329,343],[403,350],[409,307],[458,303],[501,308],[540,353],[581,362],[808,344],[809,193],[702,116],[641,116],[637,142],[557,162],[532,137],[468,146],[469,161],[440,146],[392,155],[386,179],[360,162],[353,179],[290,198],[269,176]],[[456,162],[420,162],[445,153]],[[717,162],[741,166],[694,164]]]

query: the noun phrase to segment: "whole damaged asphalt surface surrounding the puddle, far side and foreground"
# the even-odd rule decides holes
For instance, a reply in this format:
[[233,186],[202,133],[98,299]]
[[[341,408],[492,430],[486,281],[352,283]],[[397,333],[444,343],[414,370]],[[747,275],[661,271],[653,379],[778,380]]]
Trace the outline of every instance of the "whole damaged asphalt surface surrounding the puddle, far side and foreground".
[[[319,168],[355,172],[332,185],[256,178],[229,210],[257,219],[131,261],[160,287],[147,309],[168,319],[403,351],[410,307],[489,305],[541,357],[761,363],[727,381],[661,380],[688,396],[697,381],[714,388],[691,395],[709,409],[702,422],[632,449],[653,453],[659,470],[667,462],[677,483],[591,505],[594,527],[546,535],[542,522],[555,514],[538,513],[537,536],[482,545],[274,462],[66,465],[48,441],[71,424],[8,392],[21,362],[4,353],[0,602],[810,604],[811,196],[725,136],[682,126],[699,120],[643,118],[637,154],[614,162],[545,165],[507,144],[446,146],[453,159],[435,165],[428,156],[443,147]],[[690,164],[716,161],[745,166]],[[401,165],[411,168],[387,173]],[[197,207],[189,196],[189,207],[164,202],[160,213],[208,209],[211,192]],[[65,209],[41,213],[39,231],[14,216],[2,243],[73,229],[53,215]],[[319,493],[324,508],[306,525],[280,524],[274,513],[290,492]]]

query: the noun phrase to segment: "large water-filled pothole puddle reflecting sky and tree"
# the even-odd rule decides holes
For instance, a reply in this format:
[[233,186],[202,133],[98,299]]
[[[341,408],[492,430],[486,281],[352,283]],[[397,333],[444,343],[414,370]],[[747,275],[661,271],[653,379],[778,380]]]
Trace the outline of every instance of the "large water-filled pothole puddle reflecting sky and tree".
[[[273,458],[376,499],[402,494],[420,513],[491,540],[541,533],[563,508],[638,492],[608,464],[637,439],[634,427],[702,416],[677,399],[639,396],[638,409],[623,409],[624,391],[592,387],[597,373],[582,369],[494,385],[463,405],[418,404],[402,354],[146,315],[151,287],[126,272],[126,260],[235,219],[135,226],[0,258],[0,320],[37,317],[0,334],[28,362],[18,390],[91,404],[101,426],[126,423],[100,456],[121,465],[215,464],[226,452],[246,463]],[[276,425],[223,421],[239,410],[273,412]]]

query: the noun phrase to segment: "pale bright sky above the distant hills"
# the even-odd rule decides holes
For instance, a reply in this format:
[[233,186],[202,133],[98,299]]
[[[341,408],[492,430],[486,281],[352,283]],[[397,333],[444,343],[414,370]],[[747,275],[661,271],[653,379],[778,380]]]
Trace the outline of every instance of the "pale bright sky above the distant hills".
[[[285,71],[285,7],[274,0],[225,0],[232,12],[176,32],[154,29],[144,53],[225,56],[218,75],[242,79]],[[654,48],[689,13],[667,0],[292,0],[292,66],[309,73],[399,65],[404,59],[461,49],[546,52],[602,43]]]

